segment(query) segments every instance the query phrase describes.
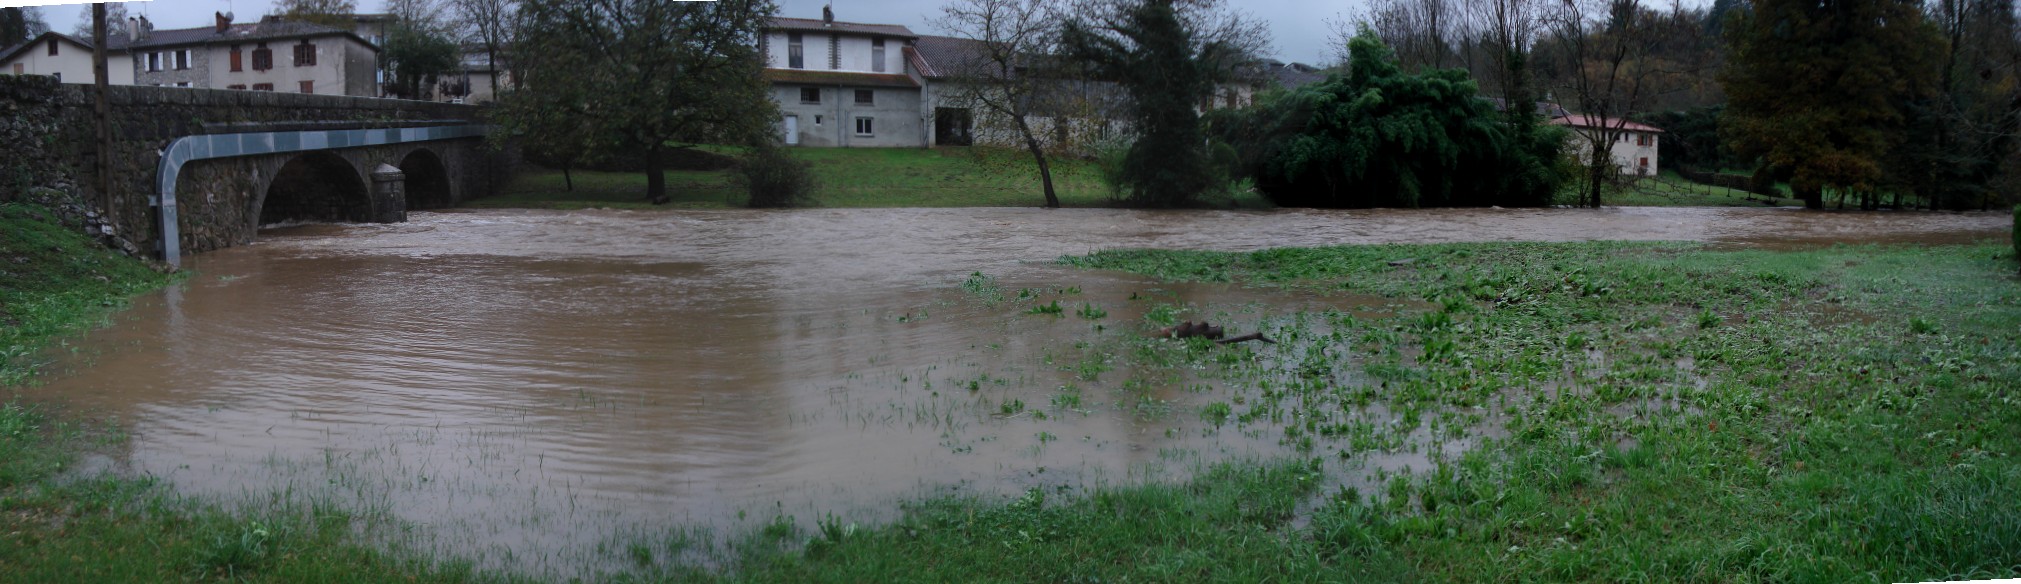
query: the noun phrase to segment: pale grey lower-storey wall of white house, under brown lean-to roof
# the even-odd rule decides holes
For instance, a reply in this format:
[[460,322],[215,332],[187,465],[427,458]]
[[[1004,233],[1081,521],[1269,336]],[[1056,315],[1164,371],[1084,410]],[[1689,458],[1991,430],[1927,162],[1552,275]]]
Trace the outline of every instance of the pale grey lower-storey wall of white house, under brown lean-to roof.
[[[814,148],[924,148],[928,123],[920,91],[909,87],[821,87],[821,103],[800,103],[800,87],[772,85],[782,115],[798,115],[800,145]],[[873,105],[857,105],[855,89],[875,91]],[[871,117],[871,135],[855,133],[855,119]],[[819,123],[816,123],[819,119]],[[784,127],[784,123],[780,123]]]

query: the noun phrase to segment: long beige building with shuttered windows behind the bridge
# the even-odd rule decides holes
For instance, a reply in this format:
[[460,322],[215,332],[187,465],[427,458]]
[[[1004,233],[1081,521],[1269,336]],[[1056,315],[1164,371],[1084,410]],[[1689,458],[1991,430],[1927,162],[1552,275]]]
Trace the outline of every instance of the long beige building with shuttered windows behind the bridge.
[[232,24],[154,30],[146,18],[123,42],[133,85],[378,95],[378,46],[352,30],[307,22]]

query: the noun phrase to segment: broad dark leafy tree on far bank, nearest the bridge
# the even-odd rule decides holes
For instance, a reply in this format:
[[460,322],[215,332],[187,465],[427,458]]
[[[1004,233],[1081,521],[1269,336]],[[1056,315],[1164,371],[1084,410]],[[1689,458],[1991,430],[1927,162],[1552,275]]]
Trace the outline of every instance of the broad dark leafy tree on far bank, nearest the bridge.
[[667,200],[661,154],[679,143],[768,143],[778,105],[762,75],[758,30],[772,2],[525,0],[515,22],[521,87],[501,123],[530,141],[542,129],[582,148],[645,154],[647,198]]

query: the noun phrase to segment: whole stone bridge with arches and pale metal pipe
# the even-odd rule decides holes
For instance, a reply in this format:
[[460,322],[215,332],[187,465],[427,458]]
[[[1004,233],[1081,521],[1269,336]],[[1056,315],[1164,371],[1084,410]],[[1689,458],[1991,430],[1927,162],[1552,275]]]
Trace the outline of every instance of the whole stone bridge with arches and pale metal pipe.
[[[473,105],[178,87],[111,87],[107,101],[107,222],[170,263],[263,224],[406,220],[491,194],[515,162],[485,143]],[[99,200],[95,123],[89,85],[0,75],[0,184]]]

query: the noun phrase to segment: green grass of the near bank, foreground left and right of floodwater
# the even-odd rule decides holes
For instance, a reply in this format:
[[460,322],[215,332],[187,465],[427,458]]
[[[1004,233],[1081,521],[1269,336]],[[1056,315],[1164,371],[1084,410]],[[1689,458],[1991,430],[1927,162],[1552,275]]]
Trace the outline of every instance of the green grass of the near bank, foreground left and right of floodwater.
[[[4,206],[8,249],[89,242]],[[46,242],[14,245],[14,232]],[[1399,257],[1417,259],[1392,267]],[[1144,337],[1202,307],[1103,319],[1055,408],[1150,404],[1156,426],[1273,436],[1279,461],[1178,483],[930,497],[899,519],[774,517],[719,538],[618,536],[608,582],[1902,582],[2021,576],[2021,287],[2015,251],[1673,242],[1384,245],[1063,259],[1170,281],[1380,295],[1394,313],[1265,311],[1277,346]],[[38,271],[8,297],[46,346],[164,279],[119,259]],[[12,269],[12,267],[10,267]],[[107,275],[97,281],[95,275]],[[20,279],[26,283],[28,279]],[[18,285],[18,283],[16,283]],[[12,287],[10,287],[12,289]],[[1008,299],[986,275],[974,303]],[[1156,299],[1081,299],[1089,303]],[[1423,301],[1423,303],[1417,303]],[[97,303],[97,307],[89,307]],[[1211,309],[1211,307],[1209,307]],[[1013,317],[1025,307],[1008,307]],[[1065,311],[1065,305],[1061,305]],[[1225,313],[1215,315],[1217,321]],[[1075,354],[1077,352],[1077,354]],[[1114,362],[1105,362],[1114,358]],[[1188,384],[1194,410],[1158,412]],[[980,388],[980,384],[978,384]],[[1067,398],[1071,396],[1071,398]],[[1665,402],[1673,406],[1649,406]],[[1061,406],[1065,404],[1065,406]],[[1352,416],[1380,406],[1372,424]],[[1013,404],[1004,402],[1004,410]],[[1017,410],[1025,410],[1017,402]],[[1033,410],[1043,408],[1039,404]],[[1039,416],[1010,432],[1053,434]],[[1356,469],[1409,436],[1473,436],[1409,473]],[[1065,436],[1071,439],[1071,436]],[[216,507],[146,479],[69,475],[115,428],[0,408],[0,582],[499,582],[382,550],[392,517],[277,493]],[[699,533],[699,536],[697,536]],[[697,540],[699,538],[699,540]]]

